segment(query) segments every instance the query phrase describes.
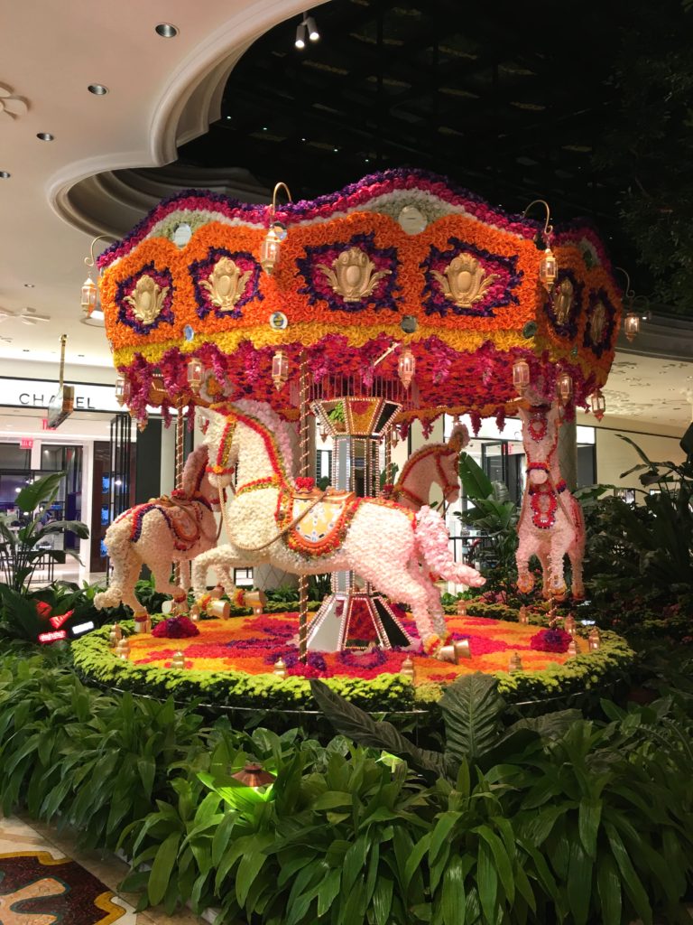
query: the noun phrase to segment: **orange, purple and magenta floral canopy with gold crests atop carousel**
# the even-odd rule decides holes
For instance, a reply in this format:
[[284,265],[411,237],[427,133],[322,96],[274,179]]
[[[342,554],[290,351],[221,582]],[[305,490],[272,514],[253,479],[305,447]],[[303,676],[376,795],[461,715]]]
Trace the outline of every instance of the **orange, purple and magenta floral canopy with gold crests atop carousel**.
[[[261,244],[277,220],[286,240],[269,275]],[[444,410],[503,416],[517,401],[518,359],[547,398],[569,373],[574,401],[586,406],[614,358],[620,291],[594,231],[571,227],[551,238],[558,276],[547,292],[539,229],[417,170],[374,174],[274,216],[265,205],[180,193],[98,262],[128,404],[145,413],[153,376],[163,377],[164,411],[188,401],[195,355],[226,395],[271,401],[290,415],[296,389],[277,391],[271,377],[280,347],[292,371],[304,357],[323,386],[347,377],[359,388],[374,379],[399,388],[399,347],[374,364],[401,344],[416,358],[405,422]]]

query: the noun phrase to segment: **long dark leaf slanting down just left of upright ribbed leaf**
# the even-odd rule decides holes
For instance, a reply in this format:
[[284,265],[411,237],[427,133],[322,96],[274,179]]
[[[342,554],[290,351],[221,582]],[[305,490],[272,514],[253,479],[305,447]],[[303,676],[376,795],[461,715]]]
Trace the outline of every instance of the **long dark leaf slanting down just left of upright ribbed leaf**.
[[418,748],[395,729],[391,722],[376,722],[368,713],[340,697],[322,681],[311,679],[310,691],[337,732],[360,745],[383,748],[384,751],[399,755],[420,771],[444,777],[445,761],[440,752]]

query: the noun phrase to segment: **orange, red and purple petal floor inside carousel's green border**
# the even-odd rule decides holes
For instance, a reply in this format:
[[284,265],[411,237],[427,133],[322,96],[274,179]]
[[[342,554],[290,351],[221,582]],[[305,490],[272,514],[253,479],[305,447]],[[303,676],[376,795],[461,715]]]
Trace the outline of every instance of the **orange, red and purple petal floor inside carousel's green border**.
[[[416,638],[414,624],[404,620],[407,631]],[[202,671],[229,669],[261,674],[272,672],[280,656],[289,674],[310,677],[347,675],[374,678],[386,672],[399,672],[407,652],[373,649],[362,653],[311,652],[308,665],[297,660],[296,637],[298,613],[235,617],[231,620],[204,620],[197,624],[200,635],[188,638],[156,638],[152,635],[130,637],[130,661],[133,664],[171,667],[171,659],[182,651],[187,668]],[[563,663],[566,653],[544,652],[534,648],[536,626],[505,623],[482,617],[449,617],[448,626],[455,639],[468,639],[471,659],[457,665],[413,655],[418,681],[451,681],[467,672],[507,671],[511,656],[517,652],[526,671],[538,671],[550,663]],[[578,650],[586,646],[577,640]]]

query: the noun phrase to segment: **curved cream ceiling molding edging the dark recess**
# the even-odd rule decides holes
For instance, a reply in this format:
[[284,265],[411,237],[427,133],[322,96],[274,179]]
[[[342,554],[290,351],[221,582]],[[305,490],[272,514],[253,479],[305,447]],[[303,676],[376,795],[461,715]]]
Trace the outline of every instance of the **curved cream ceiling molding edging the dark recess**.
[[[311,6],[317,6],[314,0]],[[220,116],[226,80],[249,46],[277,23],[300,14],[304,7],[305,0],[256,0],[226,19],[165,81],[140,149],[104,152],[76,161],[48,181],[46,198],[55,213],[90,235],[120,237],[127,232],[154,202],[146,193],[114,181],[113,172],[162,166],[175,160],[179,144],[199,137]],[[178,188],[174,186],[164,195]],[[122,201],[114,196],[116,189],[122,192]]]

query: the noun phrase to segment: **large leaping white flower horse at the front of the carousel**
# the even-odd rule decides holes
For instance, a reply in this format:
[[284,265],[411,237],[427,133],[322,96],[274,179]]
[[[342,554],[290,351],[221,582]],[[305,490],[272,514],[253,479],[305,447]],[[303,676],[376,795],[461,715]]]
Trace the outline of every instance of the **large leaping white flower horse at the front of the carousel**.
[[[198,597],[206,590],[208,568],[226,574],[269,562],[295,574],[353,571],[409,605],[426,651],[441,648],[444,612],[428,571],[457,584],[481,586],[484,579],[453,561],[439,514],[423,507],[415,515],[393,501],[351,492],[298,492],[287,477],[286,431],[269,405],[241,400],[200,413],[208,421],[211,480],[221,490],[235,469],[236,493],[224,511],[230,543],[193,562]],[[304,521],[310,526],[301,531]],[[322,524],[320,534],[316,524]]]

